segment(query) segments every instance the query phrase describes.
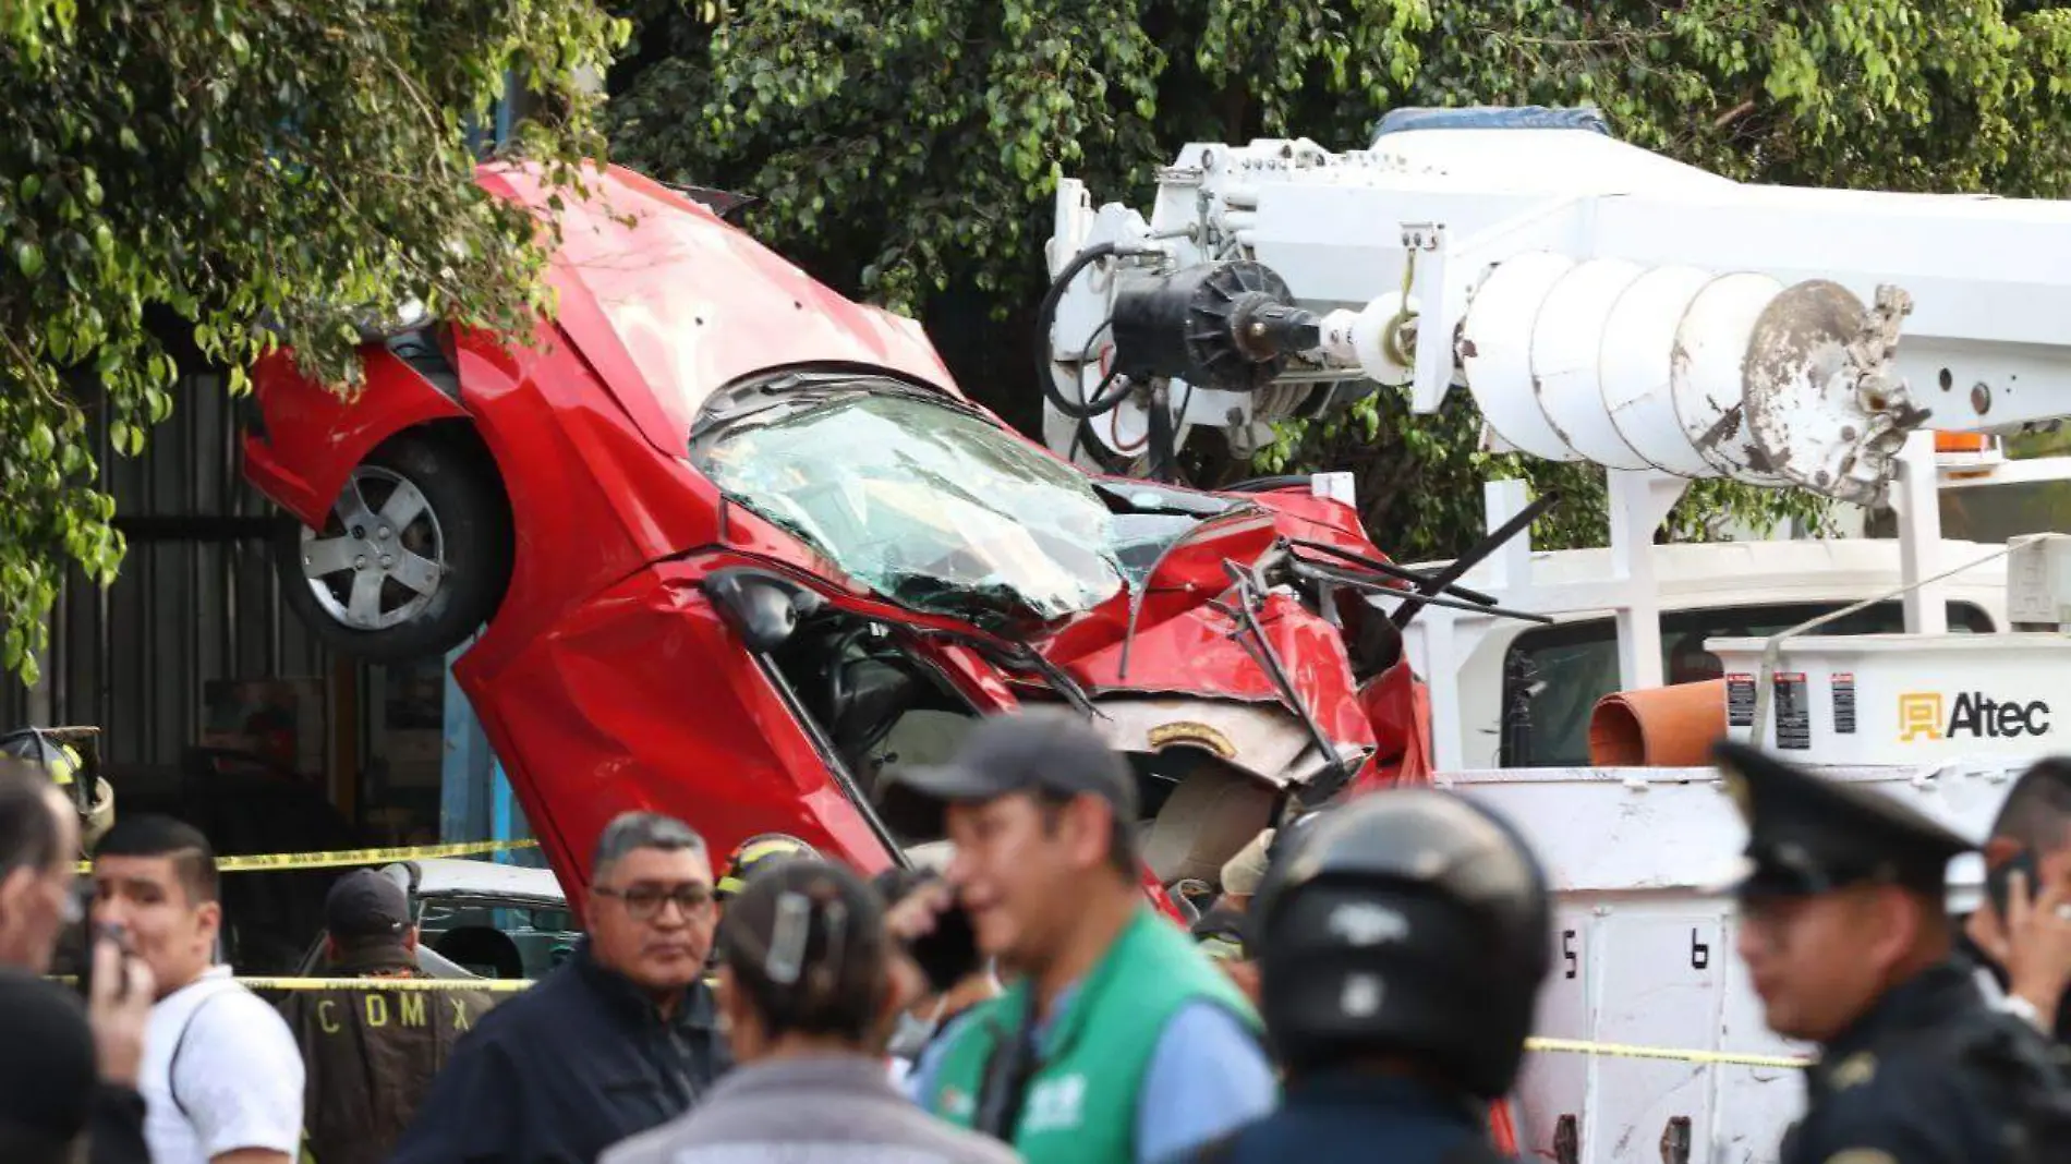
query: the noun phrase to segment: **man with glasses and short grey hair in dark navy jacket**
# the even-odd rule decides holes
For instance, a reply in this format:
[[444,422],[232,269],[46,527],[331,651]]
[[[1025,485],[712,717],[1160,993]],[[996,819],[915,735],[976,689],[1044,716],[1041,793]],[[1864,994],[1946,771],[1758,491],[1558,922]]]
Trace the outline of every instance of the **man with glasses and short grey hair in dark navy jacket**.
[[696,1104],[729,1067],[712,994],[712,864],[679,820],[596,843],[588,936],[460,1040],[393,1164],[592,1164]]

